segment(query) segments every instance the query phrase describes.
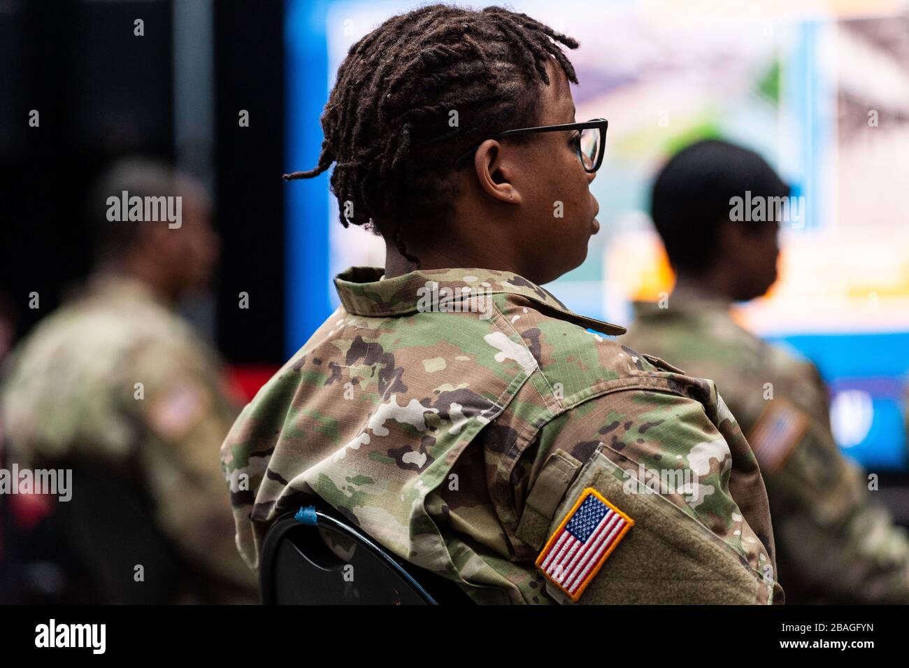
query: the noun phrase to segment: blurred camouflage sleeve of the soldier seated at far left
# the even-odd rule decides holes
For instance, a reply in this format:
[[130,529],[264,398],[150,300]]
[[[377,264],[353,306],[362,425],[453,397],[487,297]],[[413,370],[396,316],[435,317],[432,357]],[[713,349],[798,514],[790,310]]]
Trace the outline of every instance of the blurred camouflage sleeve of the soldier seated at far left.
[[224,583],[219,593],[251,600],[255,576],[236,552],[218,465],[237,409],[219,384],[217,365],[204,348],[162,345],[145,346],[129,368],[135,418],[153,434],[140,448],[139,467],[160,527],[190,561]]

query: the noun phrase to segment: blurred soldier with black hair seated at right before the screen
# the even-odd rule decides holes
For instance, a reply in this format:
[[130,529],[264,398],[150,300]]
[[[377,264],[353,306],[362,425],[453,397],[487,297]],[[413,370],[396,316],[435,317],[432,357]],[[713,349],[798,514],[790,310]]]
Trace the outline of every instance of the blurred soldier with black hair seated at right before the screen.
[[752,202],[789,195],[759,155],[721,141],[665,165],[652,214],[678,279],[666,303],[636,304],[622,341],[716,382],[764,474],[787,603],[909,603],[909,542],[834,442],[814,364],[729,314],[776,280],[779,220],[734,222],[745,191]]

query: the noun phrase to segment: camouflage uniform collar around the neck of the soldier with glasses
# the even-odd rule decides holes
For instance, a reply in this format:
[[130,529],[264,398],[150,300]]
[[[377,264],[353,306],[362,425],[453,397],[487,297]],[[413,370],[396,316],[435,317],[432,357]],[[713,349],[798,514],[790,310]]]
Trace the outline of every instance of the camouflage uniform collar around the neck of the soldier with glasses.
[[[563,320],[580,324],[603,334],[624,334],[624,327],[569,311],[548,290],[513,272],[494,269],[428,269],[385,278],[381,267],[350,267],[335,276],[341,304],[350,314],[388,316],[419,311],[418,304],[435,291],[445,295],[448,288],[457,299],[467,294],[519,294]],[[466,290],[464,290],[466,288]]]

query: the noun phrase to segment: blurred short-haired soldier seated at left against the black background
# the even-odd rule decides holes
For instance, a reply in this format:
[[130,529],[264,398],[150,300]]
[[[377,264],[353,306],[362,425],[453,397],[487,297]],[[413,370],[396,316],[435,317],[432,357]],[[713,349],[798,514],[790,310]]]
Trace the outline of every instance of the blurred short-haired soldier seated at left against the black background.
[[129,160],[102,178],[90,215],[85,294],[5,370],[7,460],[73,470],[72,499],[49,497],[46,553],[22,555],[58,562],[23,569],[53,582],[22,586],[52,600],[56,582],[65,599],[96,603],[255,602],[217,467],[237,408],[215,352],[175,313],[215,266],[208,198],[164,165]]

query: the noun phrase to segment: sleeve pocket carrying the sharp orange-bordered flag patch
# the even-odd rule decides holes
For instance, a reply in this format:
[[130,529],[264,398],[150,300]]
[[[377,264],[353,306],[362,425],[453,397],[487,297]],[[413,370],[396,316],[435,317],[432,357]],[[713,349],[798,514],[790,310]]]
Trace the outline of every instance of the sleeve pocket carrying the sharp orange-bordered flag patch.
[[554,513],[536,560],[560,603],[772,603],[773,580],[660,494],[627,492],[597,450]]

